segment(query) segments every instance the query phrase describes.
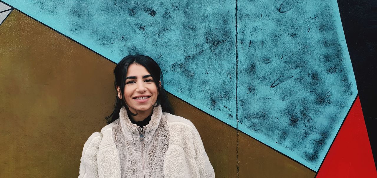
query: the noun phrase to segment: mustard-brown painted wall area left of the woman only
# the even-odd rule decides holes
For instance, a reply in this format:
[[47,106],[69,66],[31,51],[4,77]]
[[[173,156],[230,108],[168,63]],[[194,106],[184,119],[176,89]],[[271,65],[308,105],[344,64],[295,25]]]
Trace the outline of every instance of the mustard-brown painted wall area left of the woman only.
[[0,177],[77,177],[113,106],[114,67],[12,11],[0,26]]

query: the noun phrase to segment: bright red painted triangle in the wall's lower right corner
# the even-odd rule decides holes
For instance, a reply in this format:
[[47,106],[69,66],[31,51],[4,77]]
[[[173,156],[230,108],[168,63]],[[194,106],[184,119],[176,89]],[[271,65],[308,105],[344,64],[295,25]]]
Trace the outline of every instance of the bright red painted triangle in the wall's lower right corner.
[[316,178],[377,178],[372,149],[357,97]]

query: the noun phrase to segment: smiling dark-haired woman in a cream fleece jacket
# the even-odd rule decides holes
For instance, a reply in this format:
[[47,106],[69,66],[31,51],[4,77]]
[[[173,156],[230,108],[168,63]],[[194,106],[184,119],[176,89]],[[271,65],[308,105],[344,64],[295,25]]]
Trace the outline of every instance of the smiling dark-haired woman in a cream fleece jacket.
[[115,110],[86,141],[79,178],[215,177],[195,126],[173,115],[158,64],[130,55],[114,75]]

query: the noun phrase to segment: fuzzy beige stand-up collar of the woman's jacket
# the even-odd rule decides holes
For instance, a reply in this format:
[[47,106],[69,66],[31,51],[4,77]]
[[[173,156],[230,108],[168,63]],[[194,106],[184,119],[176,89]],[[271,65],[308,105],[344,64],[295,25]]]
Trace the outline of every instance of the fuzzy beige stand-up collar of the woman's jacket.
[[[149,123],[144,126],[144,129],[146,132],[156,130],[162,116],[162,108],[161,105],[158,105],[157,107],[153,108],[152,118],[150,119]],[[122,125],[122,128],[125,129],[125,131],[130,131],[134,133],[139,133],[139,126],[136,124],[133,124],[130,120],[130,118],[127,115],[127,110],[124,108],[124,106],[121,108],[119,112],[119,120],[120,124]]]

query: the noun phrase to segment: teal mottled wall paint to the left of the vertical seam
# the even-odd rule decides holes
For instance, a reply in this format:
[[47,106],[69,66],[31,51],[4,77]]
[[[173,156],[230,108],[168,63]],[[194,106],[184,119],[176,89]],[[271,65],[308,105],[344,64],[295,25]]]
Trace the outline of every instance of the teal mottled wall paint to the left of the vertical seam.
[[114,62],[135,53],[152,57],[167,91],[236,127],[235,3],[5,2]]

